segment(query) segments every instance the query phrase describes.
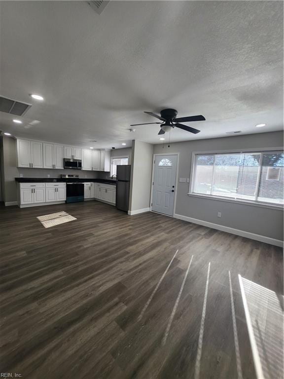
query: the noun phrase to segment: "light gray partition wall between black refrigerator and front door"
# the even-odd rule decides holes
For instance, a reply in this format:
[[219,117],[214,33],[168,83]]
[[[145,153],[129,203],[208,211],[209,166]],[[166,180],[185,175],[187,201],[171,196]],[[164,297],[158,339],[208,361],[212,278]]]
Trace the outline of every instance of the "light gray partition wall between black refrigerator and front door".
[[133,141],[129,211],[143,212],[150,208],[153,145]]

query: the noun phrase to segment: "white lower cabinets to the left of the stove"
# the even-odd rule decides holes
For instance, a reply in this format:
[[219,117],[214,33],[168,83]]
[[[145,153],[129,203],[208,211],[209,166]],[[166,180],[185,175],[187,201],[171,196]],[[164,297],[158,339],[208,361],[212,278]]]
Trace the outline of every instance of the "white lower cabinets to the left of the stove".
[[66,200],[66,183],[20,183],[20,207]]

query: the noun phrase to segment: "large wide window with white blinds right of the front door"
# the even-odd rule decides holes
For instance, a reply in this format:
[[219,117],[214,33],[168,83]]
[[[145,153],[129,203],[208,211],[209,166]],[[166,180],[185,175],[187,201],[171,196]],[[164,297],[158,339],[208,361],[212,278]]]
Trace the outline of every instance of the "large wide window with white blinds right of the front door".
[[284,204],[284,153],[194,154],[190,193]]

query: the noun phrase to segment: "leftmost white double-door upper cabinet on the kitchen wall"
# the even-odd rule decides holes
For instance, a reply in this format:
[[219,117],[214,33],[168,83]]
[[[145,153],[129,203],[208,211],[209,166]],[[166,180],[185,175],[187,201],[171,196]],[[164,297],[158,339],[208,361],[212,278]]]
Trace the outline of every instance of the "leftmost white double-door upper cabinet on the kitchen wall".
[[43,168],[42,142],[17,140],[18,167]]

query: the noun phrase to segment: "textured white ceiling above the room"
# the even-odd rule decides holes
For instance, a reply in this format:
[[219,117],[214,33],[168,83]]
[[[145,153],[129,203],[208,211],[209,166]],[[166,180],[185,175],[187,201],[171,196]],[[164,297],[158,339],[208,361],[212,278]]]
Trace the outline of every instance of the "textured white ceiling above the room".
[[101,15],[85,1],[0,7],[0,94],[33,104],[23,125],[0,113],[13,135],[159,143],[159,125],[128,128],[163,108],[207,119],[188,123],[198,135],[173,130],[172,141],[283,128],[282,1],[111,1]]

